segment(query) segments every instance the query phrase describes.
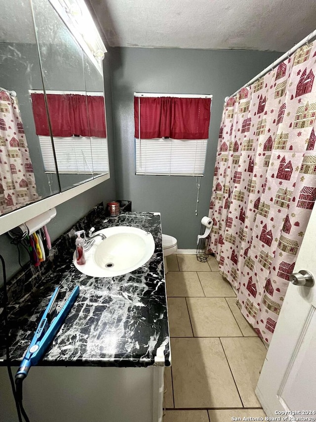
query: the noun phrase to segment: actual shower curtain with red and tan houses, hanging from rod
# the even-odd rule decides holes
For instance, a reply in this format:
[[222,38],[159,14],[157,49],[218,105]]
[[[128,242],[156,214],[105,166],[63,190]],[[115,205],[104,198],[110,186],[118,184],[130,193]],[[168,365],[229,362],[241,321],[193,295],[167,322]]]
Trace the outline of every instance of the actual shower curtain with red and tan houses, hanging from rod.
[[316,199],[315,44],[229,98],[220,127],[208,247],[268,343]]

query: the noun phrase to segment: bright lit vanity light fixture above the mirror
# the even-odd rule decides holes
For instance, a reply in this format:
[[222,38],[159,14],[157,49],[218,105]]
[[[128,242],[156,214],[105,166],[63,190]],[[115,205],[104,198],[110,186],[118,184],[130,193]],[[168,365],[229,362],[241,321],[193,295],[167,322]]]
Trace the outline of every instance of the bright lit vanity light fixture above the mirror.
[[102,60],[106,47],[84,0],[49,0],[80,47],[103,75]]

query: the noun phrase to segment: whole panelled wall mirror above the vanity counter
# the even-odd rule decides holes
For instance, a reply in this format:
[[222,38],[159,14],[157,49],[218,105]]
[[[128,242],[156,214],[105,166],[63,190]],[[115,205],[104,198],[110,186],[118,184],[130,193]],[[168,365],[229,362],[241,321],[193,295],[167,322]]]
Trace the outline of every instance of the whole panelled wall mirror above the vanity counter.
[[81,0],[11,0],[2,10],[0,219],[109,174],[105,48],[78,30],[86,21],[82,6]]

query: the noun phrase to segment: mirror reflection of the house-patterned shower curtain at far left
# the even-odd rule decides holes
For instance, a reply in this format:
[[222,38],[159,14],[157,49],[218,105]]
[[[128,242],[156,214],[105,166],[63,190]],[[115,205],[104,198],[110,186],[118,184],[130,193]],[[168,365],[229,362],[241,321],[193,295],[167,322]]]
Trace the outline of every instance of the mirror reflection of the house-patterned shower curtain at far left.
[[0,214],[39,199],[16,97],[0,90]]

